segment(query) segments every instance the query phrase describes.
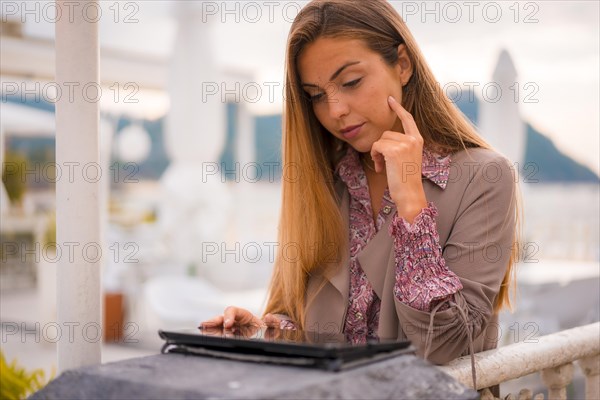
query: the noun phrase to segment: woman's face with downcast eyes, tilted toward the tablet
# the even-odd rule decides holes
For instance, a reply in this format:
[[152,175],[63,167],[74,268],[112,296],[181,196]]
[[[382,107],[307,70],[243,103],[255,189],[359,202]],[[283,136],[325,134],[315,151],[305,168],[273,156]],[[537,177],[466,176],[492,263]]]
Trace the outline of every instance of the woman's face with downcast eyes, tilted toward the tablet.
[[390,67],[360,39],[319,38],[298,57],[302,88],[315,116],[335,137],[368,152],[384,131],[403,132],[388,96],[402,101],[402,86],[412,74],[405,45]]

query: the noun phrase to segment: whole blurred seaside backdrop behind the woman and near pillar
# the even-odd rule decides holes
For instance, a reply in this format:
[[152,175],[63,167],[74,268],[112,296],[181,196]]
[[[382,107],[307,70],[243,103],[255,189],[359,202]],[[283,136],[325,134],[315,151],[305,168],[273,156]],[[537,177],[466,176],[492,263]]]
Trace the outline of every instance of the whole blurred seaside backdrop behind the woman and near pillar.
[[[598,2],[391,3],[445,93],[520,171],[525,244],[501,344],[598,321]],[[0,345],[51,371],[68,252],[53,244],[54,188],[87,171],[55,162],[54,102],[68,90],[54,82],[54,2],[0,4]],[[285,176],[285,43],[306,3],[77,4],[100,24],[111,361],[158,353],[160,328],[264,306]]]

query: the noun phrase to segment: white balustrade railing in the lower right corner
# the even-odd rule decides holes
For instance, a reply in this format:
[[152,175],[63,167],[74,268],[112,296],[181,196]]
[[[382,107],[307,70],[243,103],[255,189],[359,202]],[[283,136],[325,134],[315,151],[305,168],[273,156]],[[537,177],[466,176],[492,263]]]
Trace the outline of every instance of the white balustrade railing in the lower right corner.
[[[573,379],[577,361],[585,375],[586,399],[600,399],[600,322],[537,338],[531,343],[515,343],[475,355],[477,390],[541,372],[549,399],[566,399],[566,387]],[[470,356],[439,367],[465,386],[473,387]],[[482,399],[493,399],[488,390]],[[515,399],[531,399],[522,390]],[[535,399],[541,399],[536,395]]]

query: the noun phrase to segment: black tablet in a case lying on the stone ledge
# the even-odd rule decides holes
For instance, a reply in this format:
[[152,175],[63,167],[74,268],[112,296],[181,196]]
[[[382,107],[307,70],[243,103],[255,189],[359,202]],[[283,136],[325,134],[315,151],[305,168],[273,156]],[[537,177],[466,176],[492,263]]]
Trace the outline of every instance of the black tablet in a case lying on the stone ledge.
[[410,341],[372,338],[348,342],[343,334],[292,329],[160,330],[163,353],[185,353],[238,361],[316,367],[331,371],[414,352]]

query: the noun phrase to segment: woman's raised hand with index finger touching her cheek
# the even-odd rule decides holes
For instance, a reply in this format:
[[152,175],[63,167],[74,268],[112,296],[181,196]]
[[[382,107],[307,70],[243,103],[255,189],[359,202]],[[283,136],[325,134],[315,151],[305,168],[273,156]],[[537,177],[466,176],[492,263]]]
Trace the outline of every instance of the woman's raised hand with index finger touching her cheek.
[[423,137],[413,116],[392,96],[388,104],[400,118],[405,133],[385,131],[371,147],[375,171],[387,174],[390,196],[398,215],[409,223],[427,207],[427,199],[421,181],[423,162]]

